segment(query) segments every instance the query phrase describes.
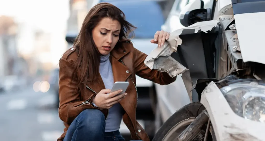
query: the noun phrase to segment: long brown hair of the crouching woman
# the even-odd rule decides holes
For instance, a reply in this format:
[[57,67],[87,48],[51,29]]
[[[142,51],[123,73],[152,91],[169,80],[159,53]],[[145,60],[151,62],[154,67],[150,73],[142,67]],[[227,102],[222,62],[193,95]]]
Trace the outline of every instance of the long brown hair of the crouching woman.
[[[80,32],[74,41],[78,56],[73,64],[73,76],[76,76],[77,71],[80,71],[80,76],[77,77],[76,92],[79,91],[79,88],[85,90],[87,81],[93,83],[100,76],[100,53],[92,38],[92,30],[104,17],[109,17],[120,22],[121,32],[119,40],[122,38],[127,39],[128,35],[133,33],[133,29],[136,28],[125,20],[125,15],[119,8],[110,3],[99,3],[90,9],[83,21]],[[120,47],[119,42],[116,44],[115,48],[117,47]]]

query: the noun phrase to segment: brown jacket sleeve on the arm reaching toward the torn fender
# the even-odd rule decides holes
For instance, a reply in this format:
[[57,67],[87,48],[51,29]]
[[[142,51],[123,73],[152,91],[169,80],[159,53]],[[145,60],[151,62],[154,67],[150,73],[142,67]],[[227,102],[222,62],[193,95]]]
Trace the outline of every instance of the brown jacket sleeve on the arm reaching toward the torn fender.
[[134,70],[136,71],[136,75],[160,85],[167,85],[176,80],[176,76],[174,78],[171,78],[166,72],[151,70],[149,67],[145,66],[144,60],[147,57],[147,54],[139,51],[136,48],[133,48],[133,52]]

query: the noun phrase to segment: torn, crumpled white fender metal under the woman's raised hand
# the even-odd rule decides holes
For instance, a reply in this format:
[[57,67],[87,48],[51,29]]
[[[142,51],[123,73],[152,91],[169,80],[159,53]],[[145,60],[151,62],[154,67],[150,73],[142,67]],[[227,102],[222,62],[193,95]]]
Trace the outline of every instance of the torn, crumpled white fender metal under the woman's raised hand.
[[177,51],[178,45],[182,44],[182,39],[179,37],[180,35],[195,34],[202,31],[207,33],[208,31],[211,31],[213,28],[217,27],[218,24],[219,21],[217,20],[197,22],[186,28],[173,31],[170,34],[169,39],[162,47],[156,47],[147,56],[147,58],[144,60],[145,65],[150,69],[167,72],[167,74],[169,74],[171,77],[182,74],[183,82],[192,102],[193,83],[190,72],[186,67],[180,64],[170,55]]

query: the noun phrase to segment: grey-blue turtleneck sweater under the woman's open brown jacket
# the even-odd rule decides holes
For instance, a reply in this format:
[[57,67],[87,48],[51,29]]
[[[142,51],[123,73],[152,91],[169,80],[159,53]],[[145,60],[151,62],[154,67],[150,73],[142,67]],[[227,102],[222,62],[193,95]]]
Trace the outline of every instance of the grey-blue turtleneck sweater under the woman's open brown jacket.
[[[99,65],[99,73],[101,78],[104,82],[106,89],[112,89],[114,80],[113,80],[113,73],[112,73],[112,66],[109,60],[108,55],[104,55],[100,57],[100,65]],[[117,131],[120,129],[122,120],[122,107],[120,103],[114,104],[109,109],[109,114],[106,119],[106,128],[105,132]]]

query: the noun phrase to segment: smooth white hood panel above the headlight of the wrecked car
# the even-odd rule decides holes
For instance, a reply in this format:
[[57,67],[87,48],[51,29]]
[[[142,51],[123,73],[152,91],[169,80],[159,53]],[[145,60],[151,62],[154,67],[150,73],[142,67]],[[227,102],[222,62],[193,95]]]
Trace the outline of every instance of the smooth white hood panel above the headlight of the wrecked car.
[[265,64],[265,12],[236,14],[234,17],[243,61]]

